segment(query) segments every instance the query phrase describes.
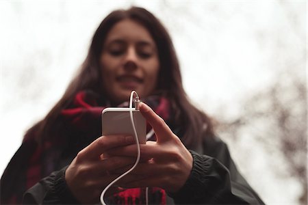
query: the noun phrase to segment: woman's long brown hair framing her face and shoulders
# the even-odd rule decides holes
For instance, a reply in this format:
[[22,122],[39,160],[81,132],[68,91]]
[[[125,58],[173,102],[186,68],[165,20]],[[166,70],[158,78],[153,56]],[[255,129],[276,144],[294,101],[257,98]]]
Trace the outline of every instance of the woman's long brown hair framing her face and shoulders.
[[181,140],[185,146],[194,148],[202,141],[203,136],[213,134],[211,120],[205,113],[194,107],[185,94],[179,61],[168,32],[151,12],[137,7],[132,7],[129,10],[116,10],[101,22],[94,33],[88,56],[84,64],[81,65],[81,70],[70,82],[59,102],[43,120],[30,128],[28,132],[36,130],[36,135],[40,140],[52,137],[53,133],[57,132],[57,118],[60,116],[60,112],[70,105],[77,92],[93,90],[100,94],[103,93],[99,67],[99,56],[103,42],[110,29],[125,18],[136,20],[146,27],[157,45],[160,62],[157,92],[162,91],[170,100],[172,109],[175,110],[175,120],[183,131]]

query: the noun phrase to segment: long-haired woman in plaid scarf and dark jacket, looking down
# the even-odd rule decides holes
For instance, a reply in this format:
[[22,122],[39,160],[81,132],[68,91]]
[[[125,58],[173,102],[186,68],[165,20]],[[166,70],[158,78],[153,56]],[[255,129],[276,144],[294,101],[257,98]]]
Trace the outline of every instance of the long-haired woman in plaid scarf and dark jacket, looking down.
[[144,204],[144,187],[151,204],[263,204],[188,100],[166,29],[135,7],[99,25],[81,71],[5,169],[1,203],[98,203],[136,159],[132,136],[99,137],[103,108],[127,107],[131,90],[155,135],[140,145],[136,169],[108,190],[108,204]]

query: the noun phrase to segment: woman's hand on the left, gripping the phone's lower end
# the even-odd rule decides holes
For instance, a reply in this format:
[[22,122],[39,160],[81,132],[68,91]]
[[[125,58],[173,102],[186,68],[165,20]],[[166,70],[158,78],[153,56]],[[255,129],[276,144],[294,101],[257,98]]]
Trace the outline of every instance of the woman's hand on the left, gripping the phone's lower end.
[[[111,171],[135,163],[136,159],[129,156],[103,156],[107,150],[131,143],[134,143],[132,136],[102,136],[77,154],[66,169],[65,180],[81,204],[99,202],[103,189],[118,176],[110,174]],[[109,193],[116,191],[117,188],[110,188]]]

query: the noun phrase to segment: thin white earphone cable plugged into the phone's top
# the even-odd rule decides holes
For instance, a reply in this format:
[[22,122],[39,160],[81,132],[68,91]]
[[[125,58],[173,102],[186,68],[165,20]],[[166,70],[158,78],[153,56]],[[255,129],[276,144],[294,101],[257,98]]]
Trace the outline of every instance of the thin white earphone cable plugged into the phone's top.
[[[115,180],[113,180],[112,182],[110,182],[110,184],[107,185],[107,187],[105,187],[105,189],[103,189],[103,191],[101,192],[101,197],[100,197],[100,200],[101,200],[101,204],[103,205],[106,205],[105,204],[105,201],[104,201],[104,195],[107,191],[107,189],[109,189],[114,183],[116,183],[118,180],[120,180],[121,178],[123,178],[124,176],[126,176],[127,174],[129,174],[129,172],[131,172],[133,169],[135,169],[135,167],[138,165],[139,161],[140,161],[140,144],[139,144],[139,139],[138,139],[138,133],[136,131],[136,126],[135,126],[135,122],[134,122],[134,119],[133,119],[133,107],[132,107],[132,104],[133,104],[133,94],[135,94],[135,109],[136,110],[139,110],[139,104],[140,104],[140,99],[139,99],[139,96],[137,94],[136,91],[132,91],[131,92],[131,95],[130,95],[130,98],[129,98],[129,115],[130,115],[130,120],[131,120],[131,126],[133,128],[133,133],[134,133],[134,137],[135,137],[135,140],[136,140],[136,145],[137,145],[137,158],[136,158],[136,161],[135,163],[133,164],[133,166],[125,173],[123,173],[122,175],[118,176],[118,178],[116,178]],[[152,135],[154,134],[154,131],[153,129],[146,135],[146,139],[149,139]],[[149,201],[149,198],[148,198],[148,191],[149,191],[149,188],[146,187],[146,204],[149,204],[148,201]]]

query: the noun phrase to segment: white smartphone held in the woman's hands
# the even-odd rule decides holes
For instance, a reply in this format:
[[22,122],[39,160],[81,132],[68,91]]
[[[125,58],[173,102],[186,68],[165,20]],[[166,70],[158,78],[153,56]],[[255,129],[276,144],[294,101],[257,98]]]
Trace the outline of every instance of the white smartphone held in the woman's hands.
[[[146,143],[146,120],[136,109],[133,120],[136,126],[139,143]],[[135,136],[128,107],[107,107],[101,113],[103,135],[131,135]]]

